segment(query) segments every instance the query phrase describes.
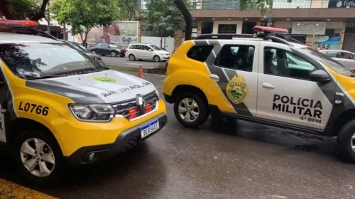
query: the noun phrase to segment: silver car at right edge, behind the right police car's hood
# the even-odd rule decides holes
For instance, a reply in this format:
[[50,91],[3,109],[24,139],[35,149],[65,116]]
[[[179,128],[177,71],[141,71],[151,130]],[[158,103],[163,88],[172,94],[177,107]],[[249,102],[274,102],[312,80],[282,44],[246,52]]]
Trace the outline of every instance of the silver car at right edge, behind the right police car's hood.
[[320,52],[342,63],[346,68],[355,68],[355,53],[346,50],[320,50]]

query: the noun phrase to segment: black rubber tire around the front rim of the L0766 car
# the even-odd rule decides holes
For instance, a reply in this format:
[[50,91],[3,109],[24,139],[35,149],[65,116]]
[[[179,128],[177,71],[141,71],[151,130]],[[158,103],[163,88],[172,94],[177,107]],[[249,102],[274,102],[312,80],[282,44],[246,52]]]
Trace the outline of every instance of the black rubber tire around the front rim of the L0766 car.
[[[43,155],[40,155],[35,147],[33,145],[35,143],[35,140],[37,140],[37,143],[40,143],[40,141],[45,142],[45,146],[43,147]],[[38,155],[35,155],[36,158],[39,158],[39,160],[36,160],[36,158],[30,158],[33,157],[29,154],[23,153],[22,146],[25,143],[28,143],[29,146],[35,151],[35,153],[38,153]],[[23,177],[27,178],[28,181],[31,181],[31,183],[36,183],[40,185],[51,185],[51,183],[55,183],[61,179],[63,176],[62,173],[65,171],[65,161],[62,155],[62,151],[60,150],[60,146],[58,145],[58,142],[55,140],[54,136],[50,134],[49,132],[45,131],[23,131],[18,136],[16,136],[15,142],[13,144],[14,146],[14,159],[16,160],[16,165],[18,166],[18,170],[22,174]],[[49,146],[49,147],[47,147]],[[50,163],[50,161],[44,161],[43,158],[45,154],[50,154],[50,151],[52,151],[54,158],[50,158],[51,156],[48,156],[48,160],[54,161],[54,166],[53,163]],[[28,161],[28,160],[34,160],[36,161],[35,163],[35,170],[40,171],[39,164],[38,163],[45,163],[45,168],[48,169],[51,173],[48,176],[35,176],[34,174],[30,173],[28,168],[24,166],[23,161]],[[36,173],[38,175],[38,173]]]

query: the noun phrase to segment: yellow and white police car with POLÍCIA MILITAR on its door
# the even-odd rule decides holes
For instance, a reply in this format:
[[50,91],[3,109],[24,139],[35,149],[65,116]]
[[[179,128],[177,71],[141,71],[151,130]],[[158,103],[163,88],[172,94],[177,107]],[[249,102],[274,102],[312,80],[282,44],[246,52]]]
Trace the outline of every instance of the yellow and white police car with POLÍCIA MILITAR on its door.
[[163,92],[185,127],[209,114],[337,136],[355,161],[355,73],[283,33],[201,35],[185,41],[167,65]]

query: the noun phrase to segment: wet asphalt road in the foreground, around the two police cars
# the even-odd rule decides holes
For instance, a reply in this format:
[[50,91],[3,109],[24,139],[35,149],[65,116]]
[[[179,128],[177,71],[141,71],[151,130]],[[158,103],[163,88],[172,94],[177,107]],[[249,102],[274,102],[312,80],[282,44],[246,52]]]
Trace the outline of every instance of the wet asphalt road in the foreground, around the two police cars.
[[[145,78],[162,93],[163,76]],[[339,160],[335,139],[211,119],[185,129],[167,109],[165,129],[140,147],[62,183],[26,185],[4,155],[0,180],[55,198],[355,198],[355,165]]]

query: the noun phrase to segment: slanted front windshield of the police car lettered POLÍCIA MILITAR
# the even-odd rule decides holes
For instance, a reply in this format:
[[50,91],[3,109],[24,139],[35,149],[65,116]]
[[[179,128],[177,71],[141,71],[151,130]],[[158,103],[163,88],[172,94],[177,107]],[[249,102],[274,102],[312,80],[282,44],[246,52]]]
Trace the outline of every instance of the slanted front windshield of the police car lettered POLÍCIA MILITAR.
[[351,70],[345,68],[344,65],[341,63],[338,63],[337,61],[333,60],[327,55],[324,55],[323,53],[320,53],[317,50],[314,50],[312,48],[302,48],[305,50],[307,53],[310,53],[314,58],[320,61],[320,63],[326,65],[327,67],[331,68],[335,72],[342,74],[342,75],[351,75],[354,72],[351,72]]

